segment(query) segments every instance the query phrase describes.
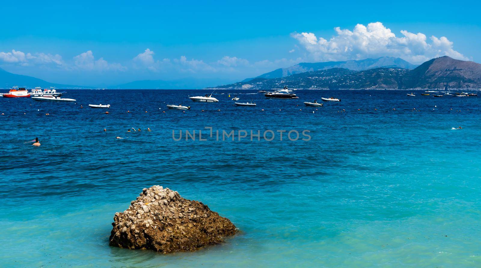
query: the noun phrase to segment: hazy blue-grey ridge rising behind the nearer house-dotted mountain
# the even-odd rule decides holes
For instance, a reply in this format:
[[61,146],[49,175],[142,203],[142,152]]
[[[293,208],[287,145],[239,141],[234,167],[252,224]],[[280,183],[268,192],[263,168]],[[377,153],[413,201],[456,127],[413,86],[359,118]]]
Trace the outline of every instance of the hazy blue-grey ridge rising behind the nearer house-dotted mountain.
[[[254,78],[280,78],[288,77],[295,74],[327,70],[331,68],[344,68],[353,71],[363,71],[368,69],[374,69],[379,67],[384,68],[403,68],[414,69],[417,65],[410,64],[401,58],[394,57],[380,57],[377,59],[365,59],[358,61],[345,61],[345,62],[324,62],[324,63],[300,63],[287,68],[280,68],[272,72],[260,75]],[[253,78],[247,78],[241,82],[251,81]]]

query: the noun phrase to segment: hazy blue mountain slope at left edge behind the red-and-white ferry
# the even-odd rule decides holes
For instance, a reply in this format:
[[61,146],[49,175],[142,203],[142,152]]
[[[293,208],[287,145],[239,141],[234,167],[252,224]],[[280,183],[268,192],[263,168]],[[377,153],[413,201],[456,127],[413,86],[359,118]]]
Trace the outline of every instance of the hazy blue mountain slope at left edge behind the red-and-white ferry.
[[24,88],[35,88],[35,87],[56,87],[60,89],[83,89],[83,88],[91,88],[91,87],[84,87],[84,86],[74,86],[74,85],[63,85],[63,84],[56,84],[47,82],[42,79],[38,79],[35,77],[23,76],[23,75],[16,75],[9,73],[2,68],[0,68],[0,88],[8,89],[13,86],[19,86]]

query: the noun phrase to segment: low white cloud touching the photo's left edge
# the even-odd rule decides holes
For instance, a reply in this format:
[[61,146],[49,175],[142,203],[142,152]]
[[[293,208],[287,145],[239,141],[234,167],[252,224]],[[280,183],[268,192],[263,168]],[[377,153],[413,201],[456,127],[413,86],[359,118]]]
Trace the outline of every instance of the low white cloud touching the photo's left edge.
[[20,64],[22,66],[32,66],[38,64],[63,64],[62,56],[59,54],[32,54],[15,50],[12,50],[12,52],[0,52],[0,62],[5,64]]

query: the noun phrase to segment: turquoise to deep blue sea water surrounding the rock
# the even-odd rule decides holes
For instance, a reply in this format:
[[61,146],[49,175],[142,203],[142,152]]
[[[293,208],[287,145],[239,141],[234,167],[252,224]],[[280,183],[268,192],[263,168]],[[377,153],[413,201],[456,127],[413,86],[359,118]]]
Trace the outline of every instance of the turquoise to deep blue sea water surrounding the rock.
[[[219,103],[187,99],[201,90],[68,90],[77,103],[1,99],[2,265],[481,265],[479,97],[299,90],[299,100],[238,94],[257,107],[232,106],[227,93],[241,92],[255,93],[225,91]],[[328,96],[342,102],[302,103]],[[110,114],[89,103],[110,103]],[[143,131],[126,133],[131,127]],[[204,135],[204,127],[260,130],[261,140],[172,139],[172,130]],[[266,141],[267,129],[307,129],[312,138]],[[35,137],[40,147],[24,144]],[[208,204],[239,234],[196,252],[110,247],[114,213],[152,185]]]

